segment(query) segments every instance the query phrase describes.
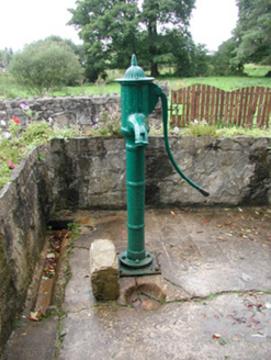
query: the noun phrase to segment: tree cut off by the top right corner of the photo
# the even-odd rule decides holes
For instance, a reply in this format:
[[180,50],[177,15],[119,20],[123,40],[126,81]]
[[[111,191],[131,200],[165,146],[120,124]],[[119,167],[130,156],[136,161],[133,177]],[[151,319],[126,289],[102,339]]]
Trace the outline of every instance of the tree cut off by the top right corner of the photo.
[[237,0],[239,19],[234,64],[271,65],[271,0]]

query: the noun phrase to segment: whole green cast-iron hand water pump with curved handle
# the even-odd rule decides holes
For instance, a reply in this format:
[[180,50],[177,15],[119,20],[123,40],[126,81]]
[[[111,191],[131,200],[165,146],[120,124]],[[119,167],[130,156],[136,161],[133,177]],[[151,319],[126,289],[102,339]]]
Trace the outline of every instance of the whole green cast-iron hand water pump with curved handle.
[[169,159],[180,176],[204,196],[208,192],[191,181],[180,170],[168,142],[168,101],[161,88],[146,77],[132,56],[131,67],[121,83],[122,133],[126,139],[127,232],[126,251],[120,254],[121,275],[156,273],[153,254],[145,250],[145,147],[148,145],[148,116],[159,98],[162,104],[163,138]]

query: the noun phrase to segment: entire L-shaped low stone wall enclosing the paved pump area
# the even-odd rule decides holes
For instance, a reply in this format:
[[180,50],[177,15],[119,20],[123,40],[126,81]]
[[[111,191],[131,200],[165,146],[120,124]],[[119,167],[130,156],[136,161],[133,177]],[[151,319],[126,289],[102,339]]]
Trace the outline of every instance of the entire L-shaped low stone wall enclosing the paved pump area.
[[[160,136],[146,148],[146,206],[271,204],[271,138],[170,136],[172,154],[202,196],[169,162]],[[43,160],[42,160],[43,159]],[[34,149],[0,190],[0,351],[21,312],[58,209],[125,209],[123,137],[54,139]]]

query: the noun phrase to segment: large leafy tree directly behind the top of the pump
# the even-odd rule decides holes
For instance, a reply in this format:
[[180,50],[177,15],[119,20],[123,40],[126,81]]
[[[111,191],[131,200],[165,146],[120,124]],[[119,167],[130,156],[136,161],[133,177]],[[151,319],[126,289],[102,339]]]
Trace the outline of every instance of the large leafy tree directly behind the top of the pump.
[[158,65],[172,59],[168,41],[176,43],[178,33],[183,42],[194,2],[144,0],[139,7],[136,0],[77,1],[77,8],[69,9],[69,24],[83,41],[89,79],[95,80],[105,68],[127,67],[133,53],[157,76]]

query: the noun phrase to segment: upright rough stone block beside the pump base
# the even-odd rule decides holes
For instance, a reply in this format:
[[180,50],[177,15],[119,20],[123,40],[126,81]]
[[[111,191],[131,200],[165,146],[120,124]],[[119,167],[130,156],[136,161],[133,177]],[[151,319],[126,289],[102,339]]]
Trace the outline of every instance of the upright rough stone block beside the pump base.
[[108,239],[95,239],[90,247],[90,278],[98,300],[120,296],[120,271],[115,246]]

